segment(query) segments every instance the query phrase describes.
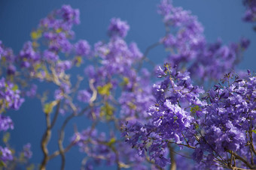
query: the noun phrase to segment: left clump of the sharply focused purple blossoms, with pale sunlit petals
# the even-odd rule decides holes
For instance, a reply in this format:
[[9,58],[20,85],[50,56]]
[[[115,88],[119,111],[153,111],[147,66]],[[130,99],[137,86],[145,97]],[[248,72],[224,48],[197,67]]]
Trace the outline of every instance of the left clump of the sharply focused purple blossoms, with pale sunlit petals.
[[203,89],[191,84],[189,73],[178,72],[170,64],[165,64],[164,69],[159,67],[157,72],[164,80],[153,86],[156,103],[148,109],[150,121],[145,125],[126,124],[123,135],[126,142],[139,149],[142,157],[148,151],[151,160],[166,166],[169,160],[164,157],[165,148],[169,143],[185,144],[184,136],[193,136],[196,118],[203,114],[206,103],[199,99]]

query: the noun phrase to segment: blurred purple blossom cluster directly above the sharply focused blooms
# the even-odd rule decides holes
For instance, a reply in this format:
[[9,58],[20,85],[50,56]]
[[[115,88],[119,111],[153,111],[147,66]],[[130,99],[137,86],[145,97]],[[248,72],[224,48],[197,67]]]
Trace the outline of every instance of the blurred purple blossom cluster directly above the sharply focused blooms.
[[223,45],[221,40],[207,43],[197,16],[174,7],[172,1],[161,1],[158,13],[166,25],[166,36],[160,40],[169,51],[166,61],[179,69],[185,68],[201,84],[211,79],[218,81],[224,73],[234,70],[242,51],[248,47],[249,41],[245,38],[230,45]]

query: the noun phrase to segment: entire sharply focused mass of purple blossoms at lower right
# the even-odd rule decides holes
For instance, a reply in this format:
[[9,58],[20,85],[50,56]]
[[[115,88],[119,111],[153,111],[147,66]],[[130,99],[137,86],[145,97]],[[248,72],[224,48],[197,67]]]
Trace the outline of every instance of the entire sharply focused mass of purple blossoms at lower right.
[[[149,107],[146,124],[126,123],[126,142],[149,155],[158,166],[170,160],[168,148],[190,148],[200,169],[255,168],[255,75],[245,79],[227,73],[204,97],[202,88],[191,85],[187,72],[166,64],[159,68],[163,81],[154,85],[156,103]],[[170,153],[169,153],[170,154]],[[220,169],[219,167],[219,169]]]

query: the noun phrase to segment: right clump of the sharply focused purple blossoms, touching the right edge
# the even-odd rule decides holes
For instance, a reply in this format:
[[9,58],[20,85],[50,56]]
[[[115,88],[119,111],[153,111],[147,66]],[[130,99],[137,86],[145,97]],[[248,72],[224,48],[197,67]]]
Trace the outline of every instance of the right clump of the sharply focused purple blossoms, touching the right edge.
[[[254,147],[256,77],[248,73],[247,79],[227,73],[223,84],[215,85],[205,97],[208,100],[206,116],[200,121],[200,145],[194,153],[198,163],[206,151],[209,161],[215,158],[228,160],[227,153],[253,157],[249,151]],[[251,164],[242,167],[251,168]]]

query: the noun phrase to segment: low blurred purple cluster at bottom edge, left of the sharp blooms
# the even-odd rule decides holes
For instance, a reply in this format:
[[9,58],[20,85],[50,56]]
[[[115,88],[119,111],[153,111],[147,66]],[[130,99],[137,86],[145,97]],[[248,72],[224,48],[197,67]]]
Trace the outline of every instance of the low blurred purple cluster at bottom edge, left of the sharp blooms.
[[86,169],[93,169],[101,164],[114,166],[116,163],[124,169],[148,169],[147,163],[139,157],[136,150],[130,149],[126,142],[120,142],[114,134],[108,136],[106,133],[88,128],[81,133],[75,133],[72,142],[79,146],[81,152],[87,154],[87,163],[84,165]]

